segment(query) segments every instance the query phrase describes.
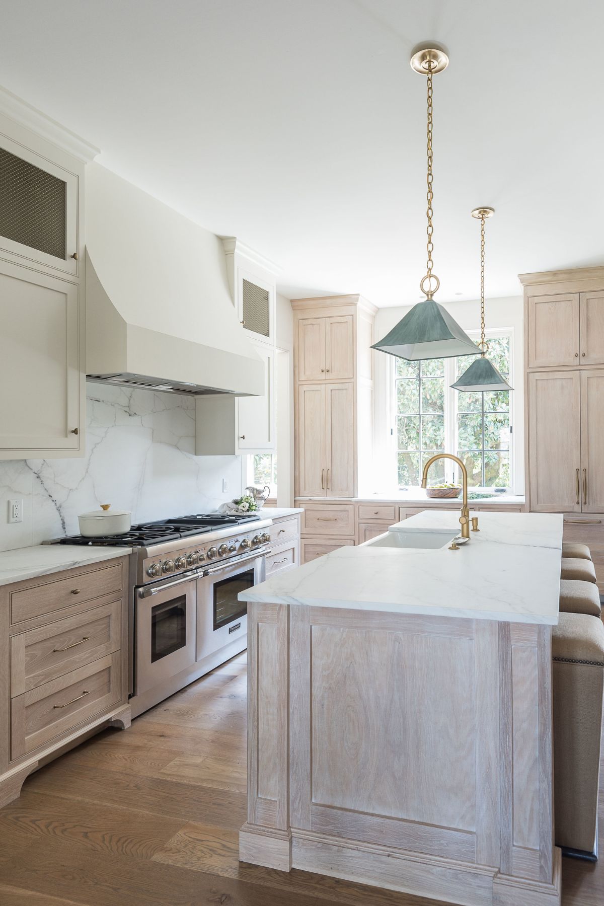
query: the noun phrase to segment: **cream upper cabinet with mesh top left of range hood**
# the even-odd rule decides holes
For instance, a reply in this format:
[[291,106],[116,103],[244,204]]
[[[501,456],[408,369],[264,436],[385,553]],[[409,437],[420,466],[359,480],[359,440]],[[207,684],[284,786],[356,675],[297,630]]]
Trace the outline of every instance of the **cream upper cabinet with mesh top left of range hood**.
[[84,455],[87,142],[0,89],[0,459]]

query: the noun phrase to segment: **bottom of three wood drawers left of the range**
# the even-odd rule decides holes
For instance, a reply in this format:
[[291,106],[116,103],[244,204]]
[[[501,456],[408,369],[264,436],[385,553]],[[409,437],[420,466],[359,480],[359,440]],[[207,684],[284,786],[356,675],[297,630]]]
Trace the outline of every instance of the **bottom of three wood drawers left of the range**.
[[11,701],[11,757],[45,746],[120,697],[119,651],[24,692]]

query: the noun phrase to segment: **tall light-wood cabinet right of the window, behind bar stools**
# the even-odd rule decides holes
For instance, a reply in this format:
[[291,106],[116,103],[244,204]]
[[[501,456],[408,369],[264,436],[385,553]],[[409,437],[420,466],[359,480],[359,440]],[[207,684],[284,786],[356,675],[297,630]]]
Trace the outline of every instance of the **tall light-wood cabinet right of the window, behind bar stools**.
[[604,593],[604,267],[520,280],[529,509],[564,514]]

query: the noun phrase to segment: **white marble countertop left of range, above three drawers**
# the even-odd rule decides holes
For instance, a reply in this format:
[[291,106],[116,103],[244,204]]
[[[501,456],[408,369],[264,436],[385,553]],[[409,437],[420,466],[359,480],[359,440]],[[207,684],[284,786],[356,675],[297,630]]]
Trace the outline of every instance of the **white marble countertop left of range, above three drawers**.
[[130,554],[131,547],[89,547],[88,545],[33,545],[14,551],[0,551],[0,585],[60,573],[74,566],[97,564],[102,560]]

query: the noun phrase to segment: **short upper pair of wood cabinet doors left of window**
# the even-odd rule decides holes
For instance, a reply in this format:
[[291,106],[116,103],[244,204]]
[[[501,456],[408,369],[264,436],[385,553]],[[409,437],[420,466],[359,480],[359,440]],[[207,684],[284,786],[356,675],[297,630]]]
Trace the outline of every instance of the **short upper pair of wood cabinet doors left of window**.
[[352,381],[352,315],[299,318],[296,361],[298,381]]

